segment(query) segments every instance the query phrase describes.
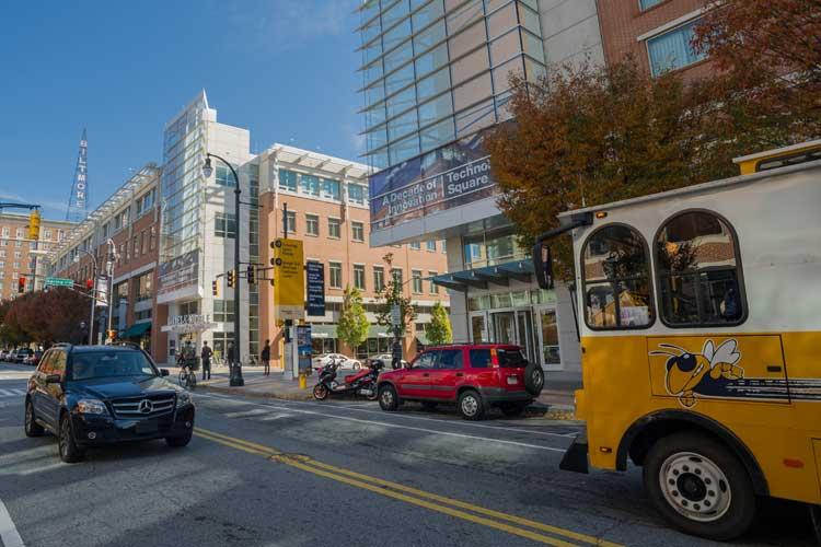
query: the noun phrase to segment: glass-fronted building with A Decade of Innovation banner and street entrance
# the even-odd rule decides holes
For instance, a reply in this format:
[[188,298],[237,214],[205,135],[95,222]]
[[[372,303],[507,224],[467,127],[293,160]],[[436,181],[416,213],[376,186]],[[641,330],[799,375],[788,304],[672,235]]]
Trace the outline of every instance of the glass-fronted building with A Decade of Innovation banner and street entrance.
[[455,341],[522,346],[577,373],[566,289],[541,291],[496,205],[484,131],[514,123],[510,77],[603,60],[594,0],[367,0],[360,5],[372,246],[444,238]]

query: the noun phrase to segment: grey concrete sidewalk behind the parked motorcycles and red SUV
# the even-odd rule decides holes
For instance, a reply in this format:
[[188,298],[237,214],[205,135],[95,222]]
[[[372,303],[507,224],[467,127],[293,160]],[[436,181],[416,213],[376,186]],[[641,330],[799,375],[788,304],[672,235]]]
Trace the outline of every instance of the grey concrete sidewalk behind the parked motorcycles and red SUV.
[[[171,377],[175,379],[180,369],[170,368]],[[311,389],[316,384],[316,374],[308,377],[308,386],[300,389],[299,382],[286,380],[281,369],[271,369],[269,376],[264,376],[262,366],[243,366],[245,385],[232,387],[229,385],[228,366],[211,370],[211,380],[203,381],[203,371],[197,371],[197,388],[205,387],[213,393],[244,395],[247,397],[263,397],[285,400],[312,399]],[[545,387],[536,399],[536,407],[544,407],[546,416],[553,419],[573,419],[574,391],[581,387],[581,382],[575,376],[554,376],[547,372]]]

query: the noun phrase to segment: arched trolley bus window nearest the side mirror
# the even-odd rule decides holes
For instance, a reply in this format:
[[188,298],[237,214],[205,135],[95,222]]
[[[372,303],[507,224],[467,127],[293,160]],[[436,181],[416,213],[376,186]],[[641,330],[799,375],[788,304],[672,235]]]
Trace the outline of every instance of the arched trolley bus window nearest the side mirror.
[[581,254],[585,321],[592,329],[645,328],[654,322],[647,245],[629,226],[593,232]]

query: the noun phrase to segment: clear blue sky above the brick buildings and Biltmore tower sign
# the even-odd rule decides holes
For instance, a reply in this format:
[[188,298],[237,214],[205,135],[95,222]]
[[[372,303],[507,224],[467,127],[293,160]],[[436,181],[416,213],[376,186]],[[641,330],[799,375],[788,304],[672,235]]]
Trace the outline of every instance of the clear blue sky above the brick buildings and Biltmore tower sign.
[[162,161],[162,128],[201,89],[218,119],[358,159],[357,0],[3,3],[0,200],[65,218],[82,128],[91,206]]

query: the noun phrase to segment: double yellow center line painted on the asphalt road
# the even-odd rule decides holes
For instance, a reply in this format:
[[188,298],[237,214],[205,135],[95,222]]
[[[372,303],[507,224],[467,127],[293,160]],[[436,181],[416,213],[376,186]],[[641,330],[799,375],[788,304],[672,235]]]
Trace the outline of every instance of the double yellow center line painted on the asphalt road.
[[[257,444],[251,441],[245,441],[243,439],[235,439],[232,437],[224,435],[222,433],[218,433],[216,431],[209,431],[209,430],[197,428],[195,432],[199,437],[203,437],[210,441],[215,441],[220,444],[232,446],[234,449],[248,452],[251,454],[269,457],[270,459],[274,459],[276,462],[279,462],[279,463],[292,466],[292,467],[297,467],[299,469],[305,470],[308,473],[312,473],[314,475],[326,477],[326,478],[329,478],[339,482],[345,482],[351,486],[356,486],[358,488],[363,488],[366,490],[369,490],[369,491],[372,491],[382,496],[388,496],[390,498],[394,498],[397,500],[405,501],[407,503],[413,503],[415,505],[431,509],[433,511],[446,513],[451,516],[456,516],[459,519],[467,520],[477,524],[483,524],[485,526],[489,526],[496,529],[501,529],[510,534],[519,535],[522,537],[528,537],[530,539],[533,539],[540,543],[546,543],[548,545],[557,545],[557,546],[574,545],[574,544],[563,542],[562,539],[555,539],[553,537],[544,536],[541,534],[535,534],[527,529],[518,528],[518,527],[510,526],[504,523],[498,523],[496,521],[490,521],[488,519],[484,519],[482,516],[476,516],[470,513],[465,513],[456,509],[442,507],[439,503],[444,503],[448,505],[453,505],[455,508],[465,509],[465,510],[469,510],[469,511],[472,511],[474,513],[478,513],[485,516],[492,516],[494,519],[507,521],[507,522],[518,524],[521,526],[528,526],[528,527],[535,528],[542,532],[547,532],[551,534],[564,536],[564,537],[575,539],[578,542],[582,542],[586,544],[590,544],[590,545],[600,545],[603,547],[621,547],[618,544],[605,542],[603,539],[599,539],[590,535],[580,534],[580,533],[573,532],[569,529],[560,528],[558,526],[552,526],[550,524],[543,524],[541,522],[531,521],[529,519],[523,519],[521,516],[510,515],[510,514],[495,511],[492,509],[486,509],[479,505],[474,505],[472,503],[467,503],[464,501],[447,498],[444,496],[438,496],[431,492],[427,492],[425,490],[419,490],[417,488],[407,487],[398,482],[392,482],[390,480],[384,480],[384,479],[380,479],[377,477],[362,475],[360,473],[356,473],[349,469],[345,469],[342,467],[336,467],[329,464],[317,462],[309,456],[286,454],[276,449],[271,449],[270,446],[265,446],[265,445]],[[398,490],[398,492],[386,490],[385,488]],[[401,493],[401,492],[406,492],[406,493]],[[414,498],[407,494],[414,494],[417,498]],[[425,501],[424,499],[418,499],[418,498],[426,498],[428,500],[437,501],[438,503],[431,503],[429,501]]]

